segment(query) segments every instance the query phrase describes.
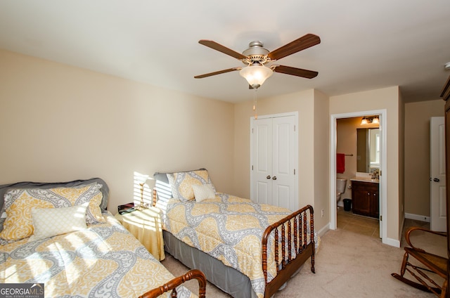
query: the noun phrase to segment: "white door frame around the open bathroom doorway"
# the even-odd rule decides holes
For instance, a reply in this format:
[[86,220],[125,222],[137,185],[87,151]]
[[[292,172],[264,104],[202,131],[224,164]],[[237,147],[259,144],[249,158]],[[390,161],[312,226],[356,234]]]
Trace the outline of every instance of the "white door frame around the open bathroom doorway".
[[380,234],[382,242],[387,241],[387,110],[366,110],[360,112],[348,112],[343,114],[330,115],[330,229],[338,228],[338,209],[336,203],[336,145],[337,139],[337,119],[364,117],[366,115],[380,115],[380,139],[381,139],[381,163],[380,171]]

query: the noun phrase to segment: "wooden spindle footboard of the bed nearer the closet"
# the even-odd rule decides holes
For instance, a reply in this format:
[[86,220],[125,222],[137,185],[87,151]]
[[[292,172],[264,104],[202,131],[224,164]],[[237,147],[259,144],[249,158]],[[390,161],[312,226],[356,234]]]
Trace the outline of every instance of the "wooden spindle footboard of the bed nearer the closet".
[[[308,217],[309,243],[307,243]],[[274,234],[273,247],[277,273],[274,279],[267,283],[267,242],[272,232]],[[281,236],[278,235],[280,233]],[[295,250],[293,250],[293,245]],[[293,254],[293,251],[295,254]],[[309,257],[311,257],[311,271],[315,273],[314,252],[314,209],[310,205],[268,226],[262,236],[262,271],[266,281],[264,297],[271,297]]]

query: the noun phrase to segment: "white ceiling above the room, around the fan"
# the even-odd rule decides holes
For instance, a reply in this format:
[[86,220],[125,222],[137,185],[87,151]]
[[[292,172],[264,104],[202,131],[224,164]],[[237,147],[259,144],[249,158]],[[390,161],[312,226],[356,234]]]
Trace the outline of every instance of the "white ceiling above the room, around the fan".
[[273,51],[307,33],[321,44],[277,63],[319,75],[274,73],[259,98],[398,85],[405,101],[425,101],[450,75],[449,0],[0,1],[0,48],[234,103],[253,98],[238,72],[193,77],[243,64],[198,40]]

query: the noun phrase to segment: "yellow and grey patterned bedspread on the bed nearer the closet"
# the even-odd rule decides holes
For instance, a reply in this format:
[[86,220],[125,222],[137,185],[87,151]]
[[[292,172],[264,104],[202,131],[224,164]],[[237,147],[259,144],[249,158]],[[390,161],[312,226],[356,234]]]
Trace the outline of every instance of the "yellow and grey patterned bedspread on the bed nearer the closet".
[[[267,226],[291,213],[282,207],[218,193],[215,199],[202,202],[171,199],[162,221],[163,228],[179,240],[248,276],[257,296],[264,297],[262,235]],[[269,281],[276,276],[273,251],[269,241]]]

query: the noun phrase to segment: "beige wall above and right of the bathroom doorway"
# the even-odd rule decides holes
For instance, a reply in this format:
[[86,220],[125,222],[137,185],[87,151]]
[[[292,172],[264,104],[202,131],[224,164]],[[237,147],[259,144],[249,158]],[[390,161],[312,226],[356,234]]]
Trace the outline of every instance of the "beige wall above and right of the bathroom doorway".
[[330,115],[361,112],[367,110],[387,110],[387,238],[400,240],[399,202],[400,166],[399,158],[399,87],[345,94],[330,97]]

